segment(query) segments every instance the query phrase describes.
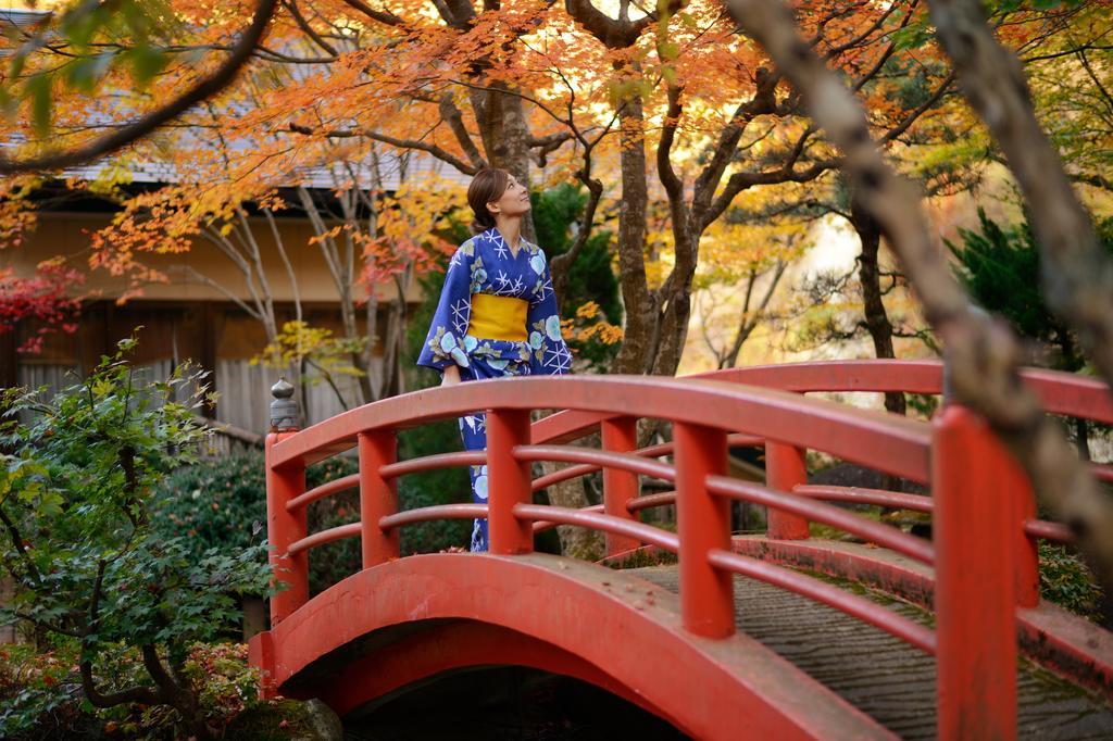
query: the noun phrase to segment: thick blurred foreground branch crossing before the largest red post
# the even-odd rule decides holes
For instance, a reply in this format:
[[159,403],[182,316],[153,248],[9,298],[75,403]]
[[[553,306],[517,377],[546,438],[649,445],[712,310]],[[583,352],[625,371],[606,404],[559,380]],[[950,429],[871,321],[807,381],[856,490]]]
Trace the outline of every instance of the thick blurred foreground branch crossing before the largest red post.
[[[826,136],[845,152],[843,169],[859,204],[880,226],[943,338],[959,401],[982,414],[1025,466],[1036,493],[1078,535],[1101,581],[1113,585],[1113,506],[1021,381],[1022,352],[1003,325],[971,310],[920,208],[918,189],[899,177],[869,135],[865,111],[797,33],[780,0],[730,0],[733,18],[768,51],[804,96]],[[1106,306],[1107,310],[1107,306]]]

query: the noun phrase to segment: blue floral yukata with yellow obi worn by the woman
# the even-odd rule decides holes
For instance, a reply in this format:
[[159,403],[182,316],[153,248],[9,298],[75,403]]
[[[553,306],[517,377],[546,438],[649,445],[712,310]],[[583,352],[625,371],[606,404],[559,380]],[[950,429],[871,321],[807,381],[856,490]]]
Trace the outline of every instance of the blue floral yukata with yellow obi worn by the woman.
[[[441,302],[417,365],[460,366],[461,381],[562,375],[572,354],[561,337],[545,254],[519,240],[515,256],[498,229],[462,244],[449,263]],[[460,419],[469,451],[486,448],[486,415]],[[487,501],[487,467],[471,466],[472,501]],[[487,550],[486,520],[472,528],[472,551]]]

